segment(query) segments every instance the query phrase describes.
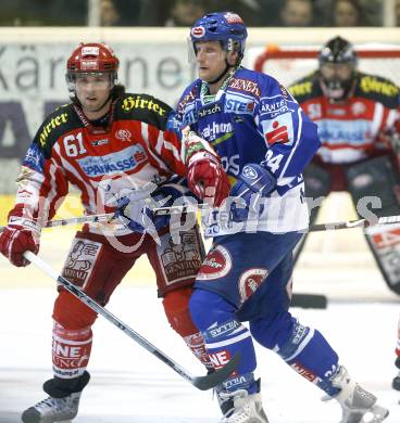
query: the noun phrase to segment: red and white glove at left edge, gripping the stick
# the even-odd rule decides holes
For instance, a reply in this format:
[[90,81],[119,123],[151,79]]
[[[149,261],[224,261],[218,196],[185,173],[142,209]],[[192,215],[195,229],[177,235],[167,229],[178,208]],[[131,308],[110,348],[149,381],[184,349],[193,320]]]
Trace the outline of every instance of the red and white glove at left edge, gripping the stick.
[[0,252],[14,266],[25,267],[29,261],[24,253],[39,251],[40,226],[23,217],[23,207],[15,206],[9,214],[9,223],[0,234]]

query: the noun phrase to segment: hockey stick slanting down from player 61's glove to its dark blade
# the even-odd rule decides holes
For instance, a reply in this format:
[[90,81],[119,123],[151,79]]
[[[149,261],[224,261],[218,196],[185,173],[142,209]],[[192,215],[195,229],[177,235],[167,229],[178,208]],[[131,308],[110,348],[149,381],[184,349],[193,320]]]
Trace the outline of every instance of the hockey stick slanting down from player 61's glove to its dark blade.
[[237,368],[240,355],[236,354],[230,361],[220,370],[216,370],[214,373],[210,373],[205,376],[192,376],[190,373],[180,367],[177,362],[175,362],[172,358],[166,356],[163,351],[152,345],[149,341],[145,339],[140,334],[129,328],[127,324],[117,319],[112,312],[107,310],[104,307],[101,307],[98,303],[96,303],[92,298],[90,298],[84,291],[79,287],[75,286],[65,278],[59,275],[54,269],[52,269],[47,262],[40,259],[32,252],[24,253],[24,257],[41,269],[45,273],[47,273],[54,281],[59,282],[63,287],[68,291],[71,294],[75,295],[78,299],[80,299],[84,304],[95,310],[97,313],[101,315],[105,318],[110,323],[114,324],[122,332],[128,335],[132,339],[136,341],[139,345],[141,345],[145,349],[151,352],[153,356],[159,358],[162,362],[173,369],[176,373],[178,373],[182,377],[186,379],[198,389],[207,390],[211,389],[214,386],[224,382]]

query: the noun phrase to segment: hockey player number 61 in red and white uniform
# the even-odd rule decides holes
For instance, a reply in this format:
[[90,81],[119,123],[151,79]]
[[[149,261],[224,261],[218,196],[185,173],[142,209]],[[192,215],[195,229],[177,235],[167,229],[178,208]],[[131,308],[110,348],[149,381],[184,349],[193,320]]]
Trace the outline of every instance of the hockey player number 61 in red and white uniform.
[[[171,107],[147,94],[125,93],[116,84],[117,68],[118,59],[105,44],[80,43],[68,59],[72,102],[50,114],[37,131],[17,179],[15,206],[0,236],[0,251],[13,265],[26,266],[23,253],[38,252],[41,225],[53,218],[68,185],[80,192],[87,214],[114,211],[121,194],[149,183],[162,185],[161,192],[174,175],[188,174],[188,185],[200,196],[204,190],[215,194],[216,205],[227,195],[229,184],[217,156],[210,149],[202,151],[195,138],[193,154],[189,151],[184,161],[182,132],[173,125]],[[170,189],[179,187],[170,184]],[[188,312],[191,285],[203,257],[201,238],[197,227],[182,233],[184,249],[190,252],[183,255],[183,246],[175,245],[162,219],[153,219],[157,240],[140,233],[140,225],[138,232],[124,225],[114,225],[111,232],[84,226],[61,274],[104,306],[136,259],[147,254],[170,324],[207,366],[202,337]],[[59,291],[53,308],[54,377],[43,384],[49,397],[23,413],[25,423],[76,416],[82,390],[89,382],[86,368],[96,318],[79,299]]]

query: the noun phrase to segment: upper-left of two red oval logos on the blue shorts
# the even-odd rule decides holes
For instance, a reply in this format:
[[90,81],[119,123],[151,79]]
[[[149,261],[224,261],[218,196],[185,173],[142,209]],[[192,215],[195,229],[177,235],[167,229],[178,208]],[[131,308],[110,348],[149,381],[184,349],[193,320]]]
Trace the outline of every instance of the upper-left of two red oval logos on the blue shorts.
[[224,246],[216,245],[207,255],[197,279],[200,281],[212,281],[225,277],[230,269],[230,253]]

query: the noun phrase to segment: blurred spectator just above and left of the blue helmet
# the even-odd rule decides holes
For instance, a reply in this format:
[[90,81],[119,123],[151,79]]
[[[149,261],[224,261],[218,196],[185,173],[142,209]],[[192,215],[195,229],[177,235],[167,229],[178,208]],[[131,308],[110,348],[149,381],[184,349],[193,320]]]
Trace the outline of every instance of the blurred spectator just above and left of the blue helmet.
[[209,2],[204,0],[174,0],[164,26],[188,26],[205,15]]

